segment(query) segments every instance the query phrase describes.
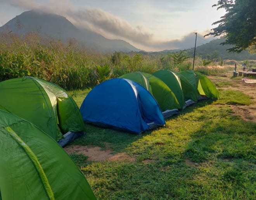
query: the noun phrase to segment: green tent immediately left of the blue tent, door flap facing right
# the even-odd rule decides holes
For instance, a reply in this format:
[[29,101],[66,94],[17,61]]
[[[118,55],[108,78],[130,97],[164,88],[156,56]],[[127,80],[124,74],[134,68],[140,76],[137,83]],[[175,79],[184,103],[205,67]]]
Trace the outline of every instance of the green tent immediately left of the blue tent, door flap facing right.
[[54,83],[32,77],[0,82],[0,106],[32,122],[55,141],[68,131],[84,131],[73,98]]

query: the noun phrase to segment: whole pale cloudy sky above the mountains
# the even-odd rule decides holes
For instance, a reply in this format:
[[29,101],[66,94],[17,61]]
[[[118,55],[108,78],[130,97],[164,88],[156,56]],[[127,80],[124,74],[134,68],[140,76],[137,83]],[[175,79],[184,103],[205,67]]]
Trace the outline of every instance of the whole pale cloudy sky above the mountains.
[[32,9],[66,17],[81,29],[123,39],[138,49],[161,51],[197,46],[225,15],[218,0],[0,0],[0,26]]

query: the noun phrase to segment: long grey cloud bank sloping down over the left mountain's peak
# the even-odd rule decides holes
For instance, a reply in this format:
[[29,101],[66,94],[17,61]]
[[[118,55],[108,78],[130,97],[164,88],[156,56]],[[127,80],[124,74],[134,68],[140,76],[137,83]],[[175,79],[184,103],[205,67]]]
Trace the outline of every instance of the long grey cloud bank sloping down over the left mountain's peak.
[[52,12],[66,17],[74,25],[103,34],[104,36],[127,39],[132,42],[150,41],[153,34],[143,30],[142,26],[133,27],[129,22],[108,12],[96,8],[78,9],[69,1],[51,0],[47,5],[36,3],[33,0],[3,0],[15,7]]

